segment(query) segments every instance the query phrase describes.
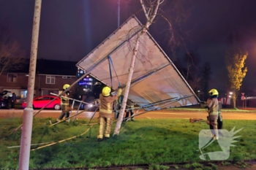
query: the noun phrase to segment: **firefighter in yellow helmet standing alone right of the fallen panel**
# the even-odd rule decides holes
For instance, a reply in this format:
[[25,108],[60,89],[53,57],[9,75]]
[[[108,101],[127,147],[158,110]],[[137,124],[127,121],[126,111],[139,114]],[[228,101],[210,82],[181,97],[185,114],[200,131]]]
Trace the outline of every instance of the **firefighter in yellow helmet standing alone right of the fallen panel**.
[[211,89],[209,92],[210,98],[206,102],[206,108],[208,109],[207,124],[210,126],[211,134],[214,139],[219,139],[218,133],[218,116],[219,116],[219,92],[216,89]]

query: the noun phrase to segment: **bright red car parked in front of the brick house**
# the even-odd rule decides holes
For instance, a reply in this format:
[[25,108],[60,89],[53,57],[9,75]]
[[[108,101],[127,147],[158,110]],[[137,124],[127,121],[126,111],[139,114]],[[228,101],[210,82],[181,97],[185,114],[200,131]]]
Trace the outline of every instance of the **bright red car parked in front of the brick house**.
[[[45,107],[50,101],[52,101],[56,96],[39,96],[38,98],[34,98],[33,100],[33,108],[41,109]],[[26,101],[21,104],[22,108],[26,107]],[[46,109],[61,109],[61,98],[56,98],[52,103],[50,103]]]

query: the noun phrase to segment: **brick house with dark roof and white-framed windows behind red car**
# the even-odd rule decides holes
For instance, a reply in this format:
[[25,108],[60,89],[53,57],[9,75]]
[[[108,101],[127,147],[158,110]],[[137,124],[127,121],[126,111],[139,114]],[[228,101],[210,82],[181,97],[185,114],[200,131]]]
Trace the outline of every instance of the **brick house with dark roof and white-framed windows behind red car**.
[[[36,79],[34,84],[34,97],[60,93],[64,84],[71,85],[77,80],[77,62],[51,61],[38,59]],[[4,72],[0,75],[0,91],[10,90],[16,93],[18,99],[26,98],[29,80],[29,61],[23,70]],[[71,89],[75,90],[75,87]]]

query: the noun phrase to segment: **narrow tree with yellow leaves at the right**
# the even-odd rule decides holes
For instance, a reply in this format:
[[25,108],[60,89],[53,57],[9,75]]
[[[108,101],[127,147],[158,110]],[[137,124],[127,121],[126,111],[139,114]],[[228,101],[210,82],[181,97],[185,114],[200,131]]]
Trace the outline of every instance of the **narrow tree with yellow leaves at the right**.
[[226,51],[225,62],[229,79],[230,90],[233,92],[233,107],[236,108],[236,98],[240,91],[247,67],[244,66],[248,53],[238,47]]

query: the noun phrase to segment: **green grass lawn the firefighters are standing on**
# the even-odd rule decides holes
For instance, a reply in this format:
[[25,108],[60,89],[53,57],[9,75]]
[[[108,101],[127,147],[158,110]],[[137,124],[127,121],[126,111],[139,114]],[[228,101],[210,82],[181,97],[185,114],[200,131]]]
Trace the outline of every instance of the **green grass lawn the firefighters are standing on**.
[[[49,126],[48,119],[34,118],[31,144],[58,142],[82,134],[89,128],[84,125],[89,120],[78,120],[75,123],[59,123]],[[54,121],[52,119],[52,121]],[[94,123],[96,120],[94,120]],[[1,169],[18,169],[21,131],[10,135],[10,132],[22,123],[18,118],[1,119],[0,129],[0,167]],[[46,123],[46,125],[45,125]],[[256,122],[251,120],[225,120],[224,128],[230,131],[245,127],[235,136],[241,136],[231,147],[229,161],[256,159]],[[113,123],[113,128],[116,123]],[[103,142],[97,142],[98,125],[83,136],[57,143],[39,150],[32,150],[30,169],[77,168],[97,166],[122,166],[150,164],[151,169],[167,169],[163,163],[184,163],[183,167],[202,168],[198,150],[198,134],[208,129],[205,122],[189,123],[189,120],[178,119],[135,119],[123,123],[119,136]],[[215,144],[216,145],[216,144]],[[214,146],[215,146],[214,145]],[[31,146],[37,148],[43,145]],[[221,150],[218,145],[211,150]],[[206,162],[206,161],[205,161]],[[209,162],[209,161],[207,161]],[[180,165],[181,166],[181,165]],[[214,169],[215,165],[211,168]],[[176,169],[178,166],[175,167]]]

